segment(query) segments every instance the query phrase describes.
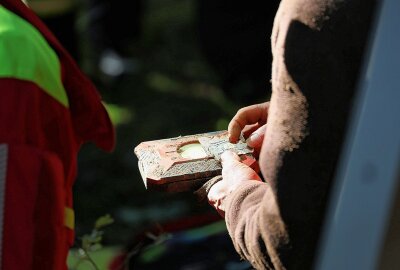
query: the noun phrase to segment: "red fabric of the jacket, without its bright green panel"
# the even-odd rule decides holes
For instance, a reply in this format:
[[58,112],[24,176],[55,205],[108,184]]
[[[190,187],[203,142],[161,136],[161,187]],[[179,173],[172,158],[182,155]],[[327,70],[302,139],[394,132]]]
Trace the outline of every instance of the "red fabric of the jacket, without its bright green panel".
[[93,84],[38,17],[21,1],[0,4],[35,26],[57,53],[70,105],[32,82],[0,79],[0,143],[9,147],[2,269],[66,269],[74,232],[64,226],[64,210],[73,207],[78,150],[93,141],[111,151],[114,129]]

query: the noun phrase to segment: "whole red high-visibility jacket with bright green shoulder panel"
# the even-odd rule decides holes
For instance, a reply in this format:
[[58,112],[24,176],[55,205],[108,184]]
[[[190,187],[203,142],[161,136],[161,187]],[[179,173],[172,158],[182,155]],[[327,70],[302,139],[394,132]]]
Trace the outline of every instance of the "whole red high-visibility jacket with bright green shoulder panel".
[[77,152],[114,147],[99,94],[20,0],[0,0],[0,269],[66,269]]

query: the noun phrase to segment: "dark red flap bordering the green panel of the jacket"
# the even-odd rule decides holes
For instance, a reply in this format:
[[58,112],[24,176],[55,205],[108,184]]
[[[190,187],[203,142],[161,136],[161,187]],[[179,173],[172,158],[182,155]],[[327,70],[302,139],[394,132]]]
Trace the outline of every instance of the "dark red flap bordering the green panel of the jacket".
[[32,24],[56,52],[61,63],[62,83],[67,92],[69,117],[77,141],[92,141],[98,147],[111,151],[115,143],[114,129],[94,85],[44,23],[22,1],[0,0],[0,4]]

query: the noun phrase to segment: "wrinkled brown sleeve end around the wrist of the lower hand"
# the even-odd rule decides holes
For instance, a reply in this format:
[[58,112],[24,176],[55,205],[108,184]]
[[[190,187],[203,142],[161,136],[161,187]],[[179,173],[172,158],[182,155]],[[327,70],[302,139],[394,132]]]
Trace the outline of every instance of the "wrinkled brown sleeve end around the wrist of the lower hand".
[[235,249],[256,269],[281,269],[288,243],[275,196],[267,183],[245,181],[226,202],[225,220]]

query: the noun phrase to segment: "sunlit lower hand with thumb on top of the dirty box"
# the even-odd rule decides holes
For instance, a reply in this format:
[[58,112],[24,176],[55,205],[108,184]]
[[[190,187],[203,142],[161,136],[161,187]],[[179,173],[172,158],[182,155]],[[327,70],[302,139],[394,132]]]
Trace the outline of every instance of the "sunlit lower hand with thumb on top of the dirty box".
[[208,192],[208,202],[218,211],[221,216],[225,216],[225,199],[236,190],[244,181],[261,181],[258,174],[240,162],[240,157],[232,152],[226,151],[221,155],[222,180],[214,184]]

